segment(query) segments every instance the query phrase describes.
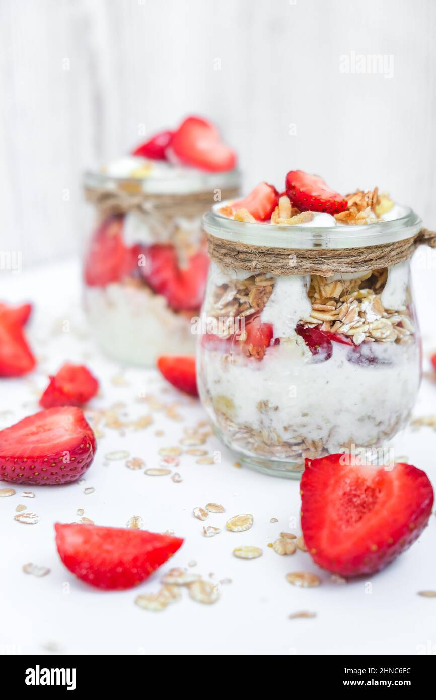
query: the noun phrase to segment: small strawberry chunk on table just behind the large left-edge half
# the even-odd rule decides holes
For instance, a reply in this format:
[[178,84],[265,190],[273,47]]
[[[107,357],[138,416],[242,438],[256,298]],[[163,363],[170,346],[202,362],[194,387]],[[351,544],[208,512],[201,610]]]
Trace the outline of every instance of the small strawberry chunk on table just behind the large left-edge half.
[[97,379],[85,365],[66,362],[50,376],[50,384],[39,400],[43,408],[52,406],[82,406],[99,390]]

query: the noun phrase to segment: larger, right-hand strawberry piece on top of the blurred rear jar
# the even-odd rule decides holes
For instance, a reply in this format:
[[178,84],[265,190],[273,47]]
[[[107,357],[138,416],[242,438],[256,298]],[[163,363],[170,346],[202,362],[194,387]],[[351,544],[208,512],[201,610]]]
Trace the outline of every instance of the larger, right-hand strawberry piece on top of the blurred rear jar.
[[167,156],[209,172],[232,170],[236,165],[236,154],[220,140],[216,127],[199,117],[188,117],[181,123],[167,148]]

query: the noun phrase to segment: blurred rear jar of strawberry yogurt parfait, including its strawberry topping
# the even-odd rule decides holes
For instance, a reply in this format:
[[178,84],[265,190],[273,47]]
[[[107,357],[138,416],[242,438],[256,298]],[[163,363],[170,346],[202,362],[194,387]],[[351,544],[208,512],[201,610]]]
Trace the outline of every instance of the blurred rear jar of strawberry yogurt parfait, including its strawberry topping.
[[122,363],[192,353],[209,259],[202,215],[239,191],[236,157],[216,127],[190,117],[99,172],[85,174],[97,221],[85,253],[85,310]]

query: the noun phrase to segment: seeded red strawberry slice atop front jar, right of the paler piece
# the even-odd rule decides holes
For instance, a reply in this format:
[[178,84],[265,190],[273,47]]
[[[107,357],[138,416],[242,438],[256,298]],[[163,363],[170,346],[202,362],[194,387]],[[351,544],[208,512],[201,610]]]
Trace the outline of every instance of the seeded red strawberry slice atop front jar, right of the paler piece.
[[347,202],[325,184],[318,175],[302,170],[290,170],[286,175],[286,193],[295,207],[302,211],[328,211],[337,214],[344,211]]

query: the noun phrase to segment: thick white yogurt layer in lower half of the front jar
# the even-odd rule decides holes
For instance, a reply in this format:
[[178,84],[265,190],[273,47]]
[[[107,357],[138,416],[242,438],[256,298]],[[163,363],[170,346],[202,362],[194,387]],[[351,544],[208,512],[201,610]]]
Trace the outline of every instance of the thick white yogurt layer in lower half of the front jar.
[[[222,351],[201,348],[200,395],[211,419],[216,422],[213,405],[224,405],[241,430],[276,430],[288,442],[322,439],[330,453],[351,442],[383,443],[405,426],[414,405],[419,349],[372,343],[383,362],[377,365],[351,363],[349,351],[333,343],[329,360],[312,363],[293,342],[270,347],[260,361],[242,353],[229,360]],[[234,449],[244,451],[240,440]],[[279,458],[273,449],[271,456]]]

